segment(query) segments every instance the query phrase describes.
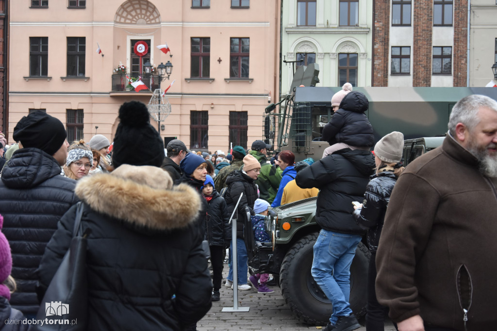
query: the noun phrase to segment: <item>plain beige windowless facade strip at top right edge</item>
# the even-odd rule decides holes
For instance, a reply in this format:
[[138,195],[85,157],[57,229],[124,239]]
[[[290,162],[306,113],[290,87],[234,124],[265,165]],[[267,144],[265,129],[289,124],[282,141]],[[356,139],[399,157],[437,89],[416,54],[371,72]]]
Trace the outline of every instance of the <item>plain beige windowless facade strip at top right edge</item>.
[[497,63],[497,1],[471,0],[469,85],[485,86],[494,79]]

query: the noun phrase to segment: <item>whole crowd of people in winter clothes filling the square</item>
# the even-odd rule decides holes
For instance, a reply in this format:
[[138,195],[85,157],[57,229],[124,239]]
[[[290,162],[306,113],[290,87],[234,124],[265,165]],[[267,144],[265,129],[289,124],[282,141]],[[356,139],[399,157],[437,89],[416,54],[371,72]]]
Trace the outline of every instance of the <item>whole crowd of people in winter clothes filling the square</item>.
[[[23,117],[0,156],[0,315],[34,319],[44,309],[81,202],[80,227],[91,230],[87,330],[194,331],[221,299],[227,248],[225,286],[274,292],[270,275],[248,273],[247,234],[270,242],[270,208],[317,196],[311,274],[332,303],[323,330],[360,327],[350,265],[364,235],[366,330],[384,330],[387,316],[399,331],[493,329],[497,102],[461,99],[443,145],[406,168],[401,132],[374,144],[363,93],[347,83],[331,103],[330,147],[321,160],[297,163],[290,151],[269,161],[261,140],[228,154],[195,153],[177,139],[165,149],[138,101],[120,107],[112,144],[104,135],[69,144],[58,119]],[[1,133],[0,144],[3,155]]]

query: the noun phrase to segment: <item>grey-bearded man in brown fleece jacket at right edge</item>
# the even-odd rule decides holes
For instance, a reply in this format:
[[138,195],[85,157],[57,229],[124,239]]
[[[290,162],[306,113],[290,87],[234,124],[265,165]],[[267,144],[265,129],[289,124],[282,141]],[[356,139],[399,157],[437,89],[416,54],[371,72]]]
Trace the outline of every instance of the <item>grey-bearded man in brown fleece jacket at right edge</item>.
[[497,328],[497,102],[461,99],[448,127],[399,177],[378,246],[377,297],[399,331]]

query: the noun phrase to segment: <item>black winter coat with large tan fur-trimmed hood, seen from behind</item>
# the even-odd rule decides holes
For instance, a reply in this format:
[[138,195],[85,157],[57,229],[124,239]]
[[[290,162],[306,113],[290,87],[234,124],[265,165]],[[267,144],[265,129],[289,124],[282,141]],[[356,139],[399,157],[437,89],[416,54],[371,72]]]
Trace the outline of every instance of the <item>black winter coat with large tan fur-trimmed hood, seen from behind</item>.
[[[201,198],[154,166],[121,165],[80,181],[87,251],[88,331],[181,330],[211,307],[212,280],[198,231]],[[50,283],[70,246],[76,206],[40,264]],[[173,299],[173,295],[175,298]]]

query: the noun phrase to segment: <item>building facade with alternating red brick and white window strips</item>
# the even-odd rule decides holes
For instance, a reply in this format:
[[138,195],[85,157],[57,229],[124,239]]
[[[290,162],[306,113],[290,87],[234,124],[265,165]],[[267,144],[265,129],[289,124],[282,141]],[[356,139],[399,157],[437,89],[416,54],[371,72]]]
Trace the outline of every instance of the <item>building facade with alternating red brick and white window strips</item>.
[[467,86],[468,0],[375,1],[373,86]]

